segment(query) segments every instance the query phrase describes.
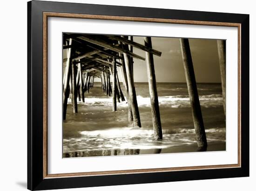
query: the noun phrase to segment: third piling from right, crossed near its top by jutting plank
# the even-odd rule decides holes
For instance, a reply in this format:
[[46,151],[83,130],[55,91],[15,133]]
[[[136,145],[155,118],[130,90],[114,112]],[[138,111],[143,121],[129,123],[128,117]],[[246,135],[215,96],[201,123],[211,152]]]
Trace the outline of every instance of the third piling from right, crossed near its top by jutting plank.
[[[152,42],[150,37],[144,38],[144,44],[148,48],[152,48]],[[146,65],[148,70],[148,88],[151,102],[151,113],[153,121],[154,136],[156,140],[162,139],[162,125],[160,118],[160,110],[156,89],[156,79],[155,79],[155,66],[153,54],[146,51]]]

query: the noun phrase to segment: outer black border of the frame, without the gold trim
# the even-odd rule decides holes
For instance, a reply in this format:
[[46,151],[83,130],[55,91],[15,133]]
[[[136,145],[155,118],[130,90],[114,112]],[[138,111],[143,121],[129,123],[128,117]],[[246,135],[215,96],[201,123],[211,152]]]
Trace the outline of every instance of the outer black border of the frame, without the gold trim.
[[[241,24],[241,167],[43,178],[43,12]],[[249,15],[51,1],[27,2],[27,188],[50,190],[249,176]]]

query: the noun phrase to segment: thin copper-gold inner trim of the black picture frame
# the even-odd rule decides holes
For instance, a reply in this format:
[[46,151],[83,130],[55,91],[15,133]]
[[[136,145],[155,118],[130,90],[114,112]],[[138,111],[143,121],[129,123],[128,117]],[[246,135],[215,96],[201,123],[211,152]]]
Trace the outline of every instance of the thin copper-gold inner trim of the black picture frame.
[[[47,18],[48,17],[238,27],[238,164],[48,174],[47,173],[47,159],[48,159],[47,158]],[[217,169],[217,168],[239,168],[241,167],[241,92],[240,91],[241,91],[241,24],[240,23],[43,12],[43,178],[101,176],[101,175],[148,173],[148,172],[171,172],[171,171],[204,170],[204,169]]]

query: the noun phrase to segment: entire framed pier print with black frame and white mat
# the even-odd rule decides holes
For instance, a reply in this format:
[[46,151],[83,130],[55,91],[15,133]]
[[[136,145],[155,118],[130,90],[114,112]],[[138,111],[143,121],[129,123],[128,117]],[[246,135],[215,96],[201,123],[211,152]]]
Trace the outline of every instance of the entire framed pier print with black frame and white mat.
[[249,176],[249,15],[27,5],[29,190]]

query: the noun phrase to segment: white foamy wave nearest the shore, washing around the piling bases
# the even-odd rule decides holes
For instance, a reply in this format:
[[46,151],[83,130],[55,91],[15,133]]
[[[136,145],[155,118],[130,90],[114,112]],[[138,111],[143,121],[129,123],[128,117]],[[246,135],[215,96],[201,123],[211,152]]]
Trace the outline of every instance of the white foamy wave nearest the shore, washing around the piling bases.
[[[163,129],[163,139],[155,140],[152,129],[117,127],[107,130],[81,131],[80,138],[63,140],[64,153],[106,149],[164,149],[172,146],[196,145],[195,130]],[[207,140],[225,141],[225,128],[206,129]]]

